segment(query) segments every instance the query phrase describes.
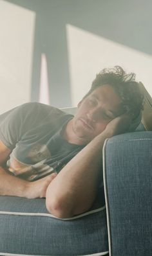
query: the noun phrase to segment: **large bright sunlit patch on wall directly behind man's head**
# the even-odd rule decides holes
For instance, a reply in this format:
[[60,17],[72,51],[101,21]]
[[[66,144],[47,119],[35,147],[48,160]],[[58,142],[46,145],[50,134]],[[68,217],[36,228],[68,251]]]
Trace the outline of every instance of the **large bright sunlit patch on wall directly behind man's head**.
[[120,65],[134,72],[152,96],[152,56],[107,40],[72,25],[66,25],[72,106],[90,89],[96,74],[105,67]]

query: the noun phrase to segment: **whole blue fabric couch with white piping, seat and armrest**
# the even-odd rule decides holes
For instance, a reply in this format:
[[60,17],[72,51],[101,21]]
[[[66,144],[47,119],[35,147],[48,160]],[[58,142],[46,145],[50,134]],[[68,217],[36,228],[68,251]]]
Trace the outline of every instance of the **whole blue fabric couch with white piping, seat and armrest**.
[[104,191],[82,215],[62,220],[44,198],[0,196],[0,255],[152,255],[151,170],[152,132],[131,132],[105,141]]

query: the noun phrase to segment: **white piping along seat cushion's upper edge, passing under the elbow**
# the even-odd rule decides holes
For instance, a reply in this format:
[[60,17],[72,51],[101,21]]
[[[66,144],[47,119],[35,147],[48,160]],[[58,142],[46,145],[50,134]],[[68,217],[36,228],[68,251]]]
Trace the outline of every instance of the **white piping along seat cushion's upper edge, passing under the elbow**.
[[50,213],[17,213],[17,212],[10,212],[10,211],[0,211],[0,215],[21,215],[21,216],[47,216],[52,218],[57,218],[59,220],[75,220],[75,218],[81,218],[86,215],[91,215],[93,213],[98,213],[99,211],[103,211],[106,208],[104,205],[103,207],[100,207],[95,210],[88,211],[87,213],[82,213],[81,215],[73,216],[71,218],[57,218],[54,215],[51,215]]

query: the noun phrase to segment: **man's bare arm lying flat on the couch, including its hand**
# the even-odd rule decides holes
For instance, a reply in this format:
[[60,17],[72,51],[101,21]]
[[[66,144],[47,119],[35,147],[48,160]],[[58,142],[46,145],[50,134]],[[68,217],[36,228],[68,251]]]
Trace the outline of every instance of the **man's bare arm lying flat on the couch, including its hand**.
[[[10,152],[11,150],[0,141],[0,165],[5,163]],[[55,176],[56,174],[52,174],[41,180],[29,182],[8,174],[5,169],[0,166],[0,195],[21,196],[26,198],[45,197],[46,189]]]

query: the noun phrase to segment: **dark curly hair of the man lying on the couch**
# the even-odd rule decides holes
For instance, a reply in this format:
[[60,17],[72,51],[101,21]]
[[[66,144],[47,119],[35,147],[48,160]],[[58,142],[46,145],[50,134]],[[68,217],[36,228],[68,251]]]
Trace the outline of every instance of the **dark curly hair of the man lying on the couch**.
[[112,86],[122,99],[123,113],[131,113],[136,117],[144,109],[144,95],[140,91],[138,82],[135,81],[135,74],[126,72],[120,66],[111,69],[102,69],[91,84],[91,89],[84,96],[86,98],[99,86]]

